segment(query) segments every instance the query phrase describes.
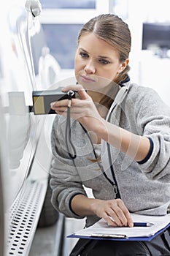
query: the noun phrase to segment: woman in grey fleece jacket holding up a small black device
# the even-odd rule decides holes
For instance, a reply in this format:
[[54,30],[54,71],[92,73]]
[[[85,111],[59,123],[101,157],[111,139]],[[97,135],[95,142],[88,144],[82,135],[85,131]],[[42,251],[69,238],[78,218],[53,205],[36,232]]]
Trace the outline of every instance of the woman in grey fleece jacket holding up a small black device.
[[[130,50],[128,25],[116,15],[88,21],[75,54],[77,84],[63,89],[77,91],[77,97],[71,108],[68,99],[51,104],[58,113],[52,131],[52,202],[66,217],[87,217],[87,227],[99,218],[133,227],[132,212],[163,215],[170,205],[170,109],[152,89],[131,83]],[[73,157],[64,133],[69,110]],[[170,238],[164,236],[150,243],[125,242],[128,252],[123,242],[107,241],[107,255],[170,255]],[[87,255],[97,253],[93,246]]]

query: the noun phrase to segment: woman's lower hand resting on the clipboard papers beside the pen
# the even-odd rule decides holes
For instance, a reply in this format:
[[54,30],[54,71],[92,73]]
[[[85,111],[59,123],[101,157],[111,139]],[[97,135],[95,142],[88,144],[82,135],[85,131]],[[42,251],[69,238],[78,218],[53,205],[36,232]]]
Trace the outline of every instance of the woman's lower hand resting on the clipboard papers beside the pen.
[[128,226],[133,227],[134,222],[131,218],[131,214],[126,208],[123,200],[98,200],[94,199],[90,205],[91,211],[98,217],[107,221],[108,225],[112,226]]

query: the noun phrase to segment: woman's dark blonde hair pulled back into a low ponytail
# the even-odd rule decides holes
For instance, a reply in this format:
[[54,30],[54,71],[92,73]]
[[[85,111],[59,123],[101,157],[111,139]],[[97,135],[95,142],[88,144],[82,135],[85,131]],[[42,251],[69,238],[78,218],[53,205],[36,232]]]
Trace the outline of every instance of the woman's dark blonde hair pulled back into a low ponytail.
[[[128,59],[131,51],[131,32],[128,29],[127,23],[114,14],[98,15],[90,19],[78,34],[78,42],[80,37],[85,33],[94,33],[100,39],[112,45],[119,53],[120,63]],[[115,83],[120,83],[127,78],[127,73],[130,70],[129,65],[121,72]]]

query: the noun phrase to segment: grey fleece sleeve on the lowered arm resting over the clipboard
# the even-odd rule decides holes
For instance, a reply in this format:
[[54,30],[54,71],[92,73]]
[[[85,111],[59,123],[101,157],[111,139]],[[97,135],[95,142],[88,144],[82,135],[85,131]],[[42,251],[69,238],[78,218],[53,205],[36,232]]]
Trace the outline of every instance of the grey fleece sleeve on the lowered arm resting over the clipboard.
[[74,161],[69,159],[64,143],[62,143],[64,139],[62,129],[62,125],[58,125],[58,116],[56,116],[51,132],[53,151],[50,168],[50,187],[53,190],[51,201],[53,206],[66,217],[81,219],[82,217],[72,211],[71,201],[75,195],[86,195],[86,193],[82,187],[77,168],[74,166]]

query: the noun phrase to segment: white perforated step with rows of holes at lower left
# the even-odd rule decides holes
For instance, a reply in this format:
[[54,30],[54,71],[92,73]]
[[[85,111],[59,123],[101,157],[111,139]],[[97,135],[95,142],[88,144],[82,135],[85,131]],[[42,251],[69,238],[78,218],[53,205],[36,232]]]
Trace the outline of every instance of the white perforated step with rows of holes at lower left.
[[26,183],[9,213],[7,255],[28,254],[47,189],[47,181]]

